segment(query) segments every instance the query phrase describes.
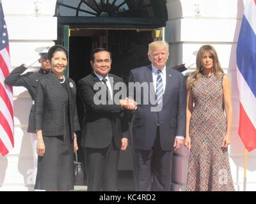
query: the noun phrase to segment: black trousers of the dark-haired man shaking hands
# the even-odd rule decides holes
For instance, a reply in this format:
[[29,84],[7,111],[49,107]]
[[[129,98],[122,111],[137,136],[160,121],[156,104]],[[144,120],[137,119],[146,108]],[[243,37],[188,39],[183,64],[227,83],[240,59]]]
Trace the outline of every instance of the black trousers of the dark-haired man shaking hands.
[[115,191],[119,156],[113,142],[103,149],[84,148],[87,191]]

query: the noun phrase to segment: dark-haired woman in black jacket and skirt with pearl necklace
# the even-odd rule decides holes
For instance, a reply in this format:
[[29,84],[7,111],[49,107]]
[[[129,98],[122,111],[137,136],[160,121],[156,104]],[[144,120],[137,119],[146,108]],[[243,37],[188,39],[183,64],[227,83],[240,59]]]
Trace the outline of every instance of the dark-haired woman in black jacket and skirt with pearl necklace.
[[74,189],[76,131],[76,84],[63,75],[68,53],[61,45],[48,52],[51,72],[36,87],[35,126],[38,171],[35,189],[68,191]]

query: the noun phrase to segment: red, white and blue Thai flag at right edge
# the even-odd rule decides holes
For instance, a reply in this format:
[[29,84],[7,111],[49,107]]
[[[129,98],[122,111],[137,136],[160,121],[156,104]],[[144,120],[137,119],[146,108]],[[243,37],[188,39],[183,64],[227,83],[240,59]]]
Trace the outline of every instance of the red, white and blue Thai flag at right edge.
[[239,136],[250,152],[256,148],[256,0],[247,0],[237,42]]

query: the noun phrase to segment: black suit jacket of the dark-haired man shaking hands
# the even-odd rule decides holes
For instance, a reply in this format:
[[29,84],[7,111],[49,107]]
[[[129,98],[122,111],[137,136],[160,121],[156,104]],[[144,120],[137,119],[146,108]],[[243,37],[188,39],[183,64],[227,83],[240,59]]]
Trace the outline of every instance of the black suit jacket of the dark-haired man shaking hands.
[[[124,82],[122,78],[116,75],[108,74],[108,77],[113,77],[114,86],[117,82]],[[99,90],[93,90],[93,86],[97,82],[100,82],[100,80],[94,73],[78,82],[79,94],[84,106],[81,145],[89,148],[105,148],[113,141],[116,149],[120,149],[122,133],[128,131],[125,110],[115,103],[113,105],[95,104],[93,97]],[[113,95],[115,96],[116,92],[119,91],[120,89],[113,90]]]

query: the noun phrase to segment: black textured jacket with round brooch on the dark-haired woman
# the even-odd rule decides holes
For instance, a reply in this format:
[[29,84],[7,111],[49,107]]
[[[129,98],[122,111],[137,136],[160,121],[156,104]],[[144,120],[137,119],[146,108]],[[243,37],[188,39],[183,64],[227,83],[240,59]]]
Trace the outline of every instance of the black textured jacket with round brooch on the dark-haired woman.
[[[76,84],[65,78],[69,99],[70,131],[72,138],[79,131],[76,110]],[[61,97],[61,84],[56,75],[50,72],[40,79],[35,96],[35,127],[42,129],[45,136],[65,135],[65,103]]]

